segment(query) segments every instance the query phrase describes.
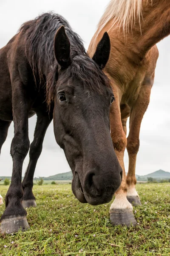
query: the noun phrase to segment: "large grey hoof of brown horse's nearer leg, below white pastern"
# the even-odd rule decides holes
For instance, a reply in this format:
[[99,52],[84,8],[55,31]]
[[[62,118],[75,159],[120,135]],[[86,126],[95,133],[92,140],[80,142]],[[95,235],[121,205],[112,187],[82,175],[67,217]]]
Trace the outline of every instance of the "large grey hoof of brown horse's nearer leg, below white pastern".
[[110,222],[113,226],[136,226],[137,222],[133,215],[132,209],[112,209],[110,213]]

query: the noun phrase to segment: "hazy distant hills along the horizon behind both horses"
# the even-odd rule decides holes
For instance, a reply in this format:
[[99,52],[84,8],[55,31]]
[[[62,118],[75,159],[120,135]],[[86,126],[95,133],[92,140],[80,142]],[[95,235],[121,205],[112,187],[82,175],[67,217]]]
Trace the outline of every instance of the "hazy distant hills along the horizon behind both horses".
[[[167,180],[170,179],[170,172],[165,172],[163,170],[158,170],[156,172],[152,172],[150,174],[147,175],[137,175],[136,174],[136,180],[138,181],[147,181],[148,177],[152,177],[153,179],[156,180]],[[5,180],[5,178],[8,178],[11,180],[11,177],[6,177],[6,176],[0,176],[0,179]],[[43,180],[72,180],[73,175],[72,172],[64,172],[64,173],[59,173],[53,176],[49,176],[49,177],[42,177]],[[22,177],[23,179],[23,177]],[[39,180],[40,177],[35,177],[34,180]],[[1,183],[3,182],[3,180],[1,181]]]

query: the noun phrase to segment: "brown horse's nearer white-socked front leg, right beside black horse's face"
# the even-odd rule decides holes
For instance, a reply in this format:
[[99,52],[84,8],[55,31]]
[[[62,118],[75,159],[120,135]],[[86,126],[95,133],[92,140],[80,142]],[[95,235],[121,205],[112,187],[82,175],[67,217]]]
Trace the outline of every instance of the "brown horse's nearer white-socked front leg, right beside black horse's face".
[[115,102],[111,105],[110,121],[111,121],[111,137],[113,146],[118,157],[119,163],[123,169],[122,183],[115,193],[115,200],[110,207],[110,221],[113,225],[136,225],[136,219],[133,215],[133,207],[127,200],[127,185],[126,174],[124,167],[124,151],[127,145],[125,132],[123,131],[121,113],[120,113],[120,100],[119,90],[114,87],[113,93]]

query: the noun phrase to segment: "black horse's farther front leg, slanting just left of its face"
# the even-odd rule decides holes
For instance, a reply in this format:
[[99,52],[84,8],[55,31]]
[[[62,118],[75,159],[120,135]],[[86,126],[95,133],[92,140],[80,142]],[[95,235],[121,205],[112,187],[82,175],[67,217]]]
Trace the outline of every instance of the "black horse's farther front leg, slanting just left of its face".
[[37,123],[34,131],[34,140],[30,145],[29,150],[29,164],[26,170],[25,177],[22,182],[23,186],[23,207],[36,207],[35,197],[32,192],[34,171],[37,164],[37,160],[40,157],[42,151],[42,143],[44,140],[45,132],[53,118],[52,113],[37,113]]

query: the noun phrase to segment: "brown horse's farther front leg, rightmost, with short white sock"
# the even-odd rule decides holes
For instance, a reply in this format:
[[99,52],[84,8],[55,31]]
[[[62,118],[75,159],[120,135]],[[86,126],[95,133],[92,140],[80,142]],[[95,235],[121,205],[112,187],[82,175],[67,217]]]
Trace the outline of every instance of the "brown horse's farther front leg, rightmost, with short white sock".
[[129,169],[127,173],[127,199],[134,205],[140,205],[140,198],[136,192],[135,166],[136,156],[139,150],[139,132],[142,118],[147,109],[150,100],[150,84],[142,85],[138,99],[130,111],[130,131],[127,137],[127,152],[129,155]]

